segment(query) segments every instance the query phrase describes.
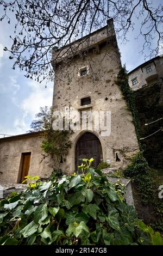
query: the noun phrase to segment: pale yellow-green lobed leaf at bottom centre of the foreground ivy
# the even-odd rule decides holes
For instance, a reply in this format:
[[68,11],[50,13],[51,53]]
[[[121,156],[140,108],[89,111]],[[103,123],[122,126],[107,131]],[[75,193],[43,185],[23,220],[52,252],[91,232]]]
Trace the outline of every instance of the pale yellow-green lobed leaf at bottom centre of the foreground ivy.
[[78,237],[82,231],[85,230],[87,233],[89,233],[89,229],[86,226],[84,221],[81,221],[79,224],[77,223],[71,223],[68,225],[68,228],[66,230],[66,233],[68,236],[73,234],[74,236]]

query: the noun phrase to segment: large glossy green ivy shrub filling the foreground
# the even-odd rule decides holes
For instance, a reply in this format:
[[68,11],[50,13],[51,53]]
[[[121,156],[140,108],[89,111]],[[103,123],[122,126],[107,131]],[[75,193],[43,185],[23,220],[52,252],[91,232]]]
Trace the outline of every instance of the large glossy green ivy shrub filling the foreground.
[[[87,166],[90,166],[90,162]],[[64,175],[0,202],[0,245],[161,245],[99,171]],[[118,190],[116,190],[118,187]]]

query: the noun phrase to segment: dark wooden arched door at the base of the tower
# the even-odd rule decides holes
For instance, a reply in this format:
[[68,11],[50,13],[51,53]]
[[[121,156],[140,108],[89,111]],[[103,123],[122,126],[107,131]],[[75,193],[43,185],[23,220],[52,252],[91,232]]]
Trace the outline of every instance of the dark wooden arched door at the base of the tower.
[[92,162],[92,167],[97,167],[103,161],[101,142],[91,132],[85,132],[79,139],[76,145],[76,170],[82,164],[83,159],[95,159]]

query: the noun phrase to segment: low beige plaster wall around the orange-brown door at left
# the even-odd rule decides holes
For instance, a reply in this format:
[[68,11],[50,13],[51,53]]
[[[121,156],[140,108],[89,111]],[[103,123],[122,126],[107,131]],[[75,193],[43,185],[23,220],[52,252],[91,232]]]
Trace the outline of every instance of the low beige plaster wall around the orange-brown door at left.
[[17,183],[20,170],[21,154],[31,152],[29,175],[39,175],[47,178],[52,173],[49,167],[49,159],[41,163],[42,150],[40,148],[42,138],[39,136],[27,136],[0,141],[0,182]]

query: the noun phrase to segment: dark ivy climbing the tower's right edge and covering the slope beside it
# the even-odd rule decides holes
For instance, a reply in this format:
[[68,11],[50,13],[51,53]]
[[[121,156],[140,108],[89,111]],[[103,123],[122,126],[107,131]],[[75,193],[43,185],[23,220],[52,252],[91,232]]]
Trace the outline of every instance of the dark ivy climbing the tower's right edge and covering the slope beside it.
[[[157,90],[157,87],[159,87],[159,85],[155,85],[155,88],[142,88],[138,90],[138,92],[133,92],[129,87],[126,66],[121,68],[117,76],[116,83],[118,86],[120,86],[124,99],[127,102],[127,106],[133,115],[135,131],[139,141],[140,137],[145,137],[147,135],[147,133],[145,134],[147,130],[145,130],[144,124],[153,121],[153,118],[155,120],[156,118],[162,116],[162,114],[160,114],[163,113],[162,106],[158,105],[160,96],[158,91],[160,92],[160,90]],[[153,126],[154,130],[156,130],[155,128],[156,127]],[[151,129],[151,127],[148,129]],[[149,134],[151,134],[152,131],[153,130],[148,130]],[[158,198],[158,187],[159,185],[163,184],[161,183],[163,182],[163,177],[162,173],[158,175],[158,170],[149,168],[148,162],[146,161],[146,159],[149,160],[150,164],[152,165],[153,163],[153,165],[156,167],[158,167],[159,162],[162,164],[162,161],[160,160],[162,159],[163,154],[159,156],[159,153],[156,154],[154,148],[155,145],[156,147],[158,147],[158,145],[162,145],[162,141],[159,136],[152,139],[153,140],[151,142],[146,140],[140,143],[139,141],[141,151],[131,159],[131,163],[128,165],[126,170],[124,170],[123,175],[133,181],[133,185],[141,197],[142,204],[152,205],[155,216],[154,220],[150,224],[152,224],[154,229],[159,229],[162,231],[163,203],[160,202],[160,199]],[[146,157],[146,159],[143,155]],[[152,162],[150,160],[152,160]],[[146,213],[144,215],[144,219],[146,220]]]

